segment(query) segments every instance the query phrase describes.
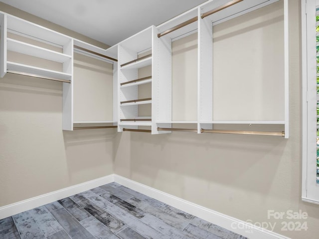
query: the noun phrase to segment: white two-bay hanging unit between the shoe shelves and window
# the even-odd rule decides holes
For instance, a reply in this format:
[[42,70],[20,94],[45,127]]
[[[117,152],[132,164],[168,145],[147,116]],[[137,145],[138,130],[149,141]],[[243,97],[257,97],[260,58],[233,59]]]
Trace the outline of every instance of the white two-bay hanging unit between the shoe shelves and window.
[[[285,138],[289,138],[289,75],[288,75],[288,1],[284,4],[284,44],[285,44],[285,77],[284,81],[284,117],[275,120],[237,120],[234,118],[227,118],[223,120],[215,120],[213,116],[213,26],[238,17],[250,11],[264,7],[278,0],[244,0],[244,1],[229,1],[229,0],[211,0],[202,5],[193,8],[161,25],[157,28],[164,36],[168,37],[170,41],[175,41],[185,36],[188,36],[197,31],[198,34],[198,70],[197,70],[197,121],[172,121],[167,117],[165,120],[158,118],[156,120],[157,126],[160,128],[169,128],[172,123],[176,124],[197,124],[197,132],[201,133],[201,129],[213,129],[216,124],[240,124],[240,125],[282,125],[285,131]],[[216,11],[220,7],[225,7],[222,10]],[[209,14],[213,12],[213,14]],[[207,14],[206,14],[207,13]],[[207,16],[206,16],[207,15]],[[191,22],[179,28],[179,25],[184,22]],[[174,29],[175,28],[175,29]],[[177,28],[177,29],[176,29]],[[174,29],[169,32],[169,29]],[[167,30],[169,33],[167,33]],[[162,80],[162,79],[160,79]],[[258,80],[258,79],[256,79]],[[168,87],[169,88],[169,87]],[[166,91],[159,90],[159,98],[170,98],[171,89],[167,95]],[[170,95],[169,95],[170,94]],[[222,99],[221,99],[222,100]],[[152,107],[154,107],[152,105]],[[171,107],[169,105],[168,107]],[[161,115],[159,111],[159,115]],[[218,118],[218,117],[216,117]],[[155,129],[155,127],[154,127]],[[169,133],[170,131],[161,131]],[[152,132],[154,133],[154,132]]]

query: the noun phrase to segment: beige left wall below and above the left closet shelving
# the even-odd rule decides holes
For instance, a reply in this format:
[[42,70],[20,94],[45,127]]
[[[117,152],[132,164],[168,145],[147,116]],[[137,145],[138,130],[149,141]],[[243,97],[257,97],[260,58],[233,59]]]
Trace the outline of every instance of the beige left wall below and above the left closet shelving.
[[[106,47],[2,2],[0,9]],[[9,74],[0,79],[0,207],[113,173],[116,130],[61,129],[61,82]]]

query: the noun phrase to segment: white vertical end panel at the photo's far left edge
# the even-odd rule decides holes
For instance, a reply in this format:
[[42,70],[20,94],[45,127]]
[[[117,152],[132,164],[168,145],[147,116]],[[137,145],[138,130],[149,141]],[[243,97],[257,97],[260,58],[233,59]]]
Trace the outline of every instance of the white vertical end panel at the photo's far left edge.
[[0,14],[0,77],[6,74],[6,14]]

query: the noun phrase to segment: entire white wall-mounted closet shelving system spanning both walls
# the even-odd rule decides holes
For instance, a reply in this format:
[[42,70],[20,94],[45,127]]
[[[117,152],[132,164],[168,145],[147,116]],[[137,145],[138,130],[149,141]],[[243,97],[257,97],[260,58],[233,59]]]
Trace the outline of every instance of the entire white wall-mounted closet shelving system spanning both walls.
[[[214,31],[221,22],[264,7],[278,0],[209,0],[198,7],[174,17],[159,26],[151,26],[109,48],[102,49],[66,35],[0,12],[0,77],[7,72],[60,80],[63,82],[63,130],[73,130],[74,124],[109,123],[118,131],[137,130],[145,126],[152,134],[170,133],[172,124],[192,124],[192,132],[203,133],[214,125],[279,125],[289,137],[289,64],[288,64],[288,0],[284,0],[284,74],[282,111],[280,117],[221,117],[216,110],[214,84]],[[172,42],[197,32],[197,109],[196,120],[172,120]],[[8,37],[9,34],[9,37]],[[22,38],[14,38],[17,35]],[[22,40],[21,40],[22,39]],[[30,39],[24,41],[23,39]],[[39,44],[33,44],[34,42]],[[45,47],[44,45],[53,46]],[[58,49],[58,50],[56,50]],[[215,49],[216,50],[216,49]],[[113,64],[113,117],[97,120],[74,120],[73,52],[101,60],[107,56]],[[61,70],[29,66],[18,61],[7,61],[7,53],[28,55],[61,64]],[[118,59],[118,61],[117,61]],[[105,59],[104,59],[105,60]],[[139,77],[145,68],[149,76]],[[222,67],[223,68],[223,67]],[[249,72],[249,69],[247,70]],[[140,74],[141,75],[141,74]],[[143,74],[142,74],[143,75]],[[75,79],[76,80],[76,79]],[[258,80],[258,78],[256,78]],[[139,88],[151,84],[151,95],[139,98]],[[110,85],[111,87],[111,85]],[[250,90],[250,89],[247,89]],[[142,92],[142,91],[140,91]],[[217,92],[218,93],[218,92]],[[214,102],[215,100],[215,102]],[[223,99],[219,99],[223,101]],[[218,103],[218,102],[217,102]],[[139,115],[139,107],[152,106],[150,115]],[[283,116],[284,115],[284,116]],[[194,117],[193,117],[194,118]],[[257,119],[258,118],[258,119]],[[158,127],[167,130],[158,131]],[[231,127],[230,127],[231,128]]]

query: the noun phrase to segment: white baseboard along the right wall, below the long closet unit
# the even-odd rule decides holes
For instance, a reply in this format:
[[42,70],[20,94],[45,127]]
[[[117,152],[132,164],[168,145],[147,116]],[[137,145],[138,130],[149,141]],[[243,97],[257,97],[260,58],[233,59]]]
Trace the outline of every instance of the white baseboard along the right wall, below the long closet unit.
[[191,203],[181,198],[172,196],[168,193],[138,183],[131,179],[115,174],[114,180],[115,182],[123,186],[143,193],[149,197],[155,198],[172,207],[178,208],[179,210],[187,212],[196,217],[202,218],[210,223],[228,229],[232,232],[238,233],[249,239],[290,239],[280,234],[274,233],[272,231],[253,226],[252,224],[249,224],[247,222],[226,216],[224,214],[218,213],[208,208],[199,206],[195,203]]

